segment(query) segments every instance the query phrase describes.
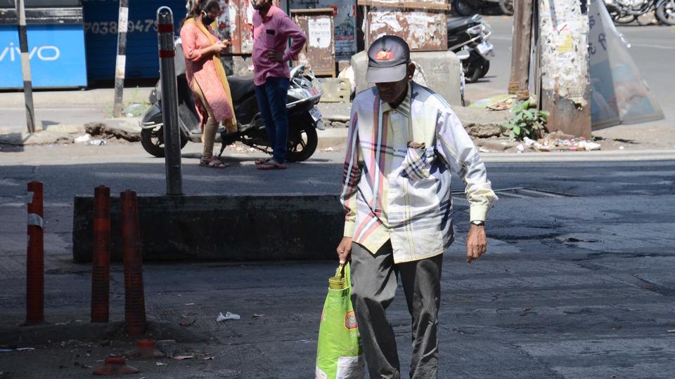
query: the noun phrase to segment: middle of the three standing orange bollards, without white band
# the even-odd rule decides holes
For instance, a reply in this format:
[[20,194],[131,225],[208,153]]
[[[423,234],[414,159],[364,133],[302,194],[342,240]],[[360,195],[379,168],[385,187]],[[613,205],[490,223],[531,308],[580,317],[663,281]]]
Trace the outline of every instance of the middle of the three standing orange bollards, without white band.
[[91,255],[91,322],[110,314],[110,188],[94,189],[94,253]]

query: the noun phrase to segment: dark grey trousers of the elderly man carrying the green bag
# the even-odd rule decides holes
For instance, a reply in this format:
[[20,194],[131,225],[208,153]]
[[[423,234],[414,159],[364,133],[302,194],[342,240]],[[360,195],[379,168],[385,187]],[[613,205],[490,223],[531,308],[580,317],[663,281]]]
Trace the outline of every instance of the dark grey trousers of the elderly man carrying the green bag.
[[352,247],[352,305],[371,378],[401,378],[396,337],[387,320],[401,278],[413,321],[411,378],[438,376],[438,308],[443,255],[394,264],[392,245],[371,254]]

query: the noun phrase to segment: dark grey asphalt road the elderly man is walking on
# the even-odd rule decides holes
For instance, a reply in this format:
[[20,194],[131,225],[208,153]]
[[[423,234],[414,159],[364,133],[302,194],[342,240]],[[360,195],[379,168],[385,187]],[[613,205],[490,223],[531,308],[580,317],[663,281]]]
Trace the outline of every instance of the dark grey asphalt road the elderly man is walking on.
[[[0,344],[36,349],[0,354],[0,371],[9,378],[82,377],[105,355],[133,347],[133,339],[87,322],[91,266],[74,264],[69,255],[73,194],[91,193],[100,183],[113,193],[162,190],[162,160],[129,149],[139,146],[28,149],[0,161]],[[190,154],[184,159],[189,193],[338,190],[339,152],[283,172],[256,171],[255,155],[241,153],[229,158],[233,166],[214,171],[196,166]],[[468,207],[456,201],[458,239],[442,274],[439,378],[671,378],[675,161],[491,163],[488,170],[496,189],[554,193],[502,192],[489,215],[489,253],[470,266],[463,258]],[[18,328],[25,299],[23,196],[32,179],[46,186],[51,324]],[[166,329],[153,335],[176,340],[175,352],[197,358],[160,365],[134,359],[142,370],[134,378],[314,378],[326,279],[335,265],[147,262],[148,318]],[[115,264],[113,321],[124,317],[123,283]],[[219,312],[242,319],[217,323]],[[406,375],[410,326],[400,291],[387,314]]]

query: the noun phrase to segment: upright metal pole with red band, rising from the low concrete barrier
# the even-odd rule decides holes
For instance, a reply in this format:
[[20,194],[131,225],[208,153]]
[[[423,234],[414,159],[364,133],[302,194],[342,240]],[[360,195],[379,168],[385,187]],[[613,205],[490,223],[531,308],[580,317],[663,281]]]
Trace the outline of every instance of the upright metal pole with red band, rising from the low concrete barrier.
[[162,83],[162,115],[164,116],[164,152],[167,168],[167,194],[183,194],[181,168],[181,131],[178,124],[178,84],[174,56],[174,15],[171,8],[157,10],[157,38]]

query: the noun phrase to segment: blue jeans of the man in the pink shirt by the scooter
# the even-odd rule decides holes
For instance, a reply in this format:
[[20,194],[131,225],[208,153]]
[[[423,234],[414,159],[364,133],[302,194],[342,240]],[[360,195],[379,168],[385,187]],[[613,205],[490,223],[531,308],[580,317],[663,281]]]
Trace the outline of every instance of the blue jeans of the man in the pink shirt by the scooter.
[[277,163],[286,161],[288,150],[288,112],[286,98],[288,96],[288,78],[267,78],[262,86],[255,86],[255,96],[262,120],[267,128],[269,145],[274,149],[272,158]]

